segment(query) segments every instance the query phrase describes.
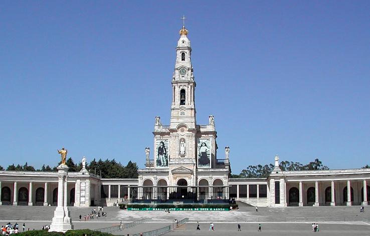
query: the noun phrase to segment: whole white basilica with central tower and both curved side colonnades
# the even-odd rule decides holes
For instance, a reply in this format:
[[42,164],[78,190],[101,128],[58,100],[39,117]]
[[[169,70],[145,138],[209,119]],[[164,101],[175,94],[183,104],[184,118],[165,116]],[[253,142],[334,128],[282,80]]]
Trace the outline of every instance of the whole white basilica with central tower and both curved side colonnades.
[[[230,147],[217,152],[214,116],[209,115],[207,124],[197,123],[188,33],[184,26],[179,30],[172,86],[168,86],[170,123],[162,124],[155,117],[153,149],[145,148],[145,168],[138,170],[138,178],[102,178],[83,164],[81,171],[68,172],[68,205],[212,204],[230,199],[268,207],[367,205],[369,168],[282,171],[275,156],[275,168],[267,178],[231,178]],[[3,205],[56,205],[58,173],[0,171],[0,193]]]

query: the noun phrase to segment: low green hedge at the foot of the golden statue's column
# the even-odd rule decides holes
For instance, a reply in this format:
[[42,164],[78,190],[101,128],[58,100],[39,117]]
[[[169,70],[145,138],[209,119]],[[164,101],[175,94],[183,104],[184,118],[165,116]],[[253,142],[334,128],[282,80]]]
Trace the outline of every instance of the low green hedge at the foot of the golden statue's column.
[[93,231],[90,229],[68,230],[65,233],[48,232],[48,230],[29,230],[17,233],[17,236],[82,236],[83,234],[86,234],[87,236],[114,236],[110,233]]

